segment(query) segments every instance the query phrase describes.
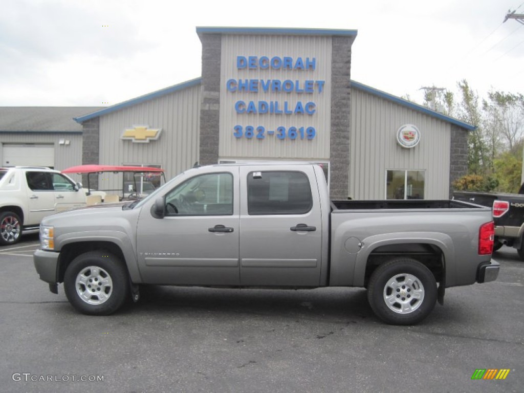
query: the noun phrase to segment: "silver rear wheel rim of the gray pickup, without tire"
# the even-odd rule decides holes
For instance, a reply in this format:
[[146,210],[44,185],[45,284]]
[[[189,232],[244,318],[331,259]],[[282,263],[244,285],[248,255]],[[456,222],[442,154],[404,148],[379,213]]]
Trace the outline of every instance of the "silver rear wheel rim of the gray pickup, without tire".
[[412,274],[397,274],[384,286],[384,301],[387,307],[398,314],[409,314],[417,310],[424,300],[424,286]]

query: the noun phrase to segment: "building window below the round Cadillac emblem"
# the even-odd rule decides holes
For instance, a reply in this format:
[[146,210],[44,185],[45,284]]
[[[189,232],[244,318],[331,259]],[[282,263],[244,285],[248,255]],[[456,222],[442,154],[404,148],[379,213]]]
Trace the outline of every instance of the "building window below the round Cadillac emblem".
[[424,199],[425,171],[387,170],[386,199]]

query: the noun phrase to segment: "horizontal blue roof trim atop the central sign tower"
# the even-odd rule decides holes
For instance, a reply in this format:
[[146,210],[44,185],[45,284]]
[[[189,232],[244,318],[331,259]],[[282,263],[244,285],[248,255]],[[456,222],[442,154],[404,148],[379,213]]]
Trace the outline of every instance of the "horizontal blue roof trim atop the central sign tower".
[[358,30],[293,29],[280,27],[197,27],[197,34],[266,34],[295,36],[356,36]]

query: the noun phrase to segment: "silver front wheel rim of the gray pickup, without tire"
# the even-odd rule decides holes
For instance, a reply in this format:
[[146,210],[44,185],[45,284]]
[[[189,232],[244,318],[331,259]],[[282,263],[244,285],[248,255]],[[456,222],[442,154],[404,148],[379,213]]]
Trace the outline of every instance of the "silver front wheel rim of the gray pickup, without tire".
[[77,294],[88,304],[105,303],[113,293],[113,280],[98,266],[84,267],[77,275]]

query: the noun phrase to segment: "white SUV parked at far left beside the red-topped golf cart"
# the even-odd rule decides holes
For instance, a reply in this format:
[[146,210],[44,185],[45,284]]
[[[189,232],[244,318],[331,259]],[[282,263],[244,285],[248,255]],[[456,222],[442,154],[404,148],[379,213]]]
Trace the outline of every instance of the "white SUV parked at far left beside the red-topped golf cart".
[[0,245],[39,230],[43,217],[85,206],[81,183],[42,167],[0,168]]

